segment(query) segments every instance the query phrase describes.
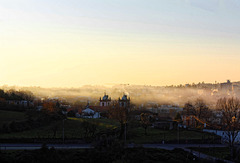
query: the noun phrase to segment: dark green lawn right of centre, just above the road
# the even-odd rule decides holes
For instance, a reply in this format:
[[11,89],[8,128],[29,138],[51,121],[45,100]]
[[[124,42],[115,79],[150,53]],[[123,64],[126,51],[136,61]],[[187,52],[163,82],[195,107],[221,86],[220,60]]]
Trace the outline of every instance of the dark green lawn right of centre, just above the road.
[[[174,141],[178,140],[178,131],[177,130],[159,130],[154,128],[148,128],[147,135],[144,133],[144,129],[142,127],[138,127],[135,129],[131,129],[129,131],[129,142],[133,143],[161,143],[163,140]],[[201,140],[203,137],[208,138],[212,137],[210,133],[202,133],[198,131],[188,131],[181,130],[180,131],[180,141],[191,141],[191,140]],[[216,136],[217,138],[217,136]]]

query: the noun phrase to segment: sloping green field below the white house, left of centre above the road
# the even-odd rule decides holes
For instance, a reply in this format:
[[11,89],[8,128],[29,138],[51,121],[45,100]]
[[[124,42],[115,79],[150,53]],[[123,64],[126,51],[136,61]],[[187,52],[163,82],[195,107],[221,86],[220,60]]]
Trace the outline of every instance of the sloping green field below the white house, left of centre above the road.
[[[85,132],[81,125],[83,121],[96,124],[96,133],[118,127],[116,121],[109,119],[68,118],[64,121],[65,138],[83,138]],[[62,138],[63,121],[57,121],[48,126],[23,132],[0,134],[0,138],[53,138],[54,131],[56,131],[56,138]]]

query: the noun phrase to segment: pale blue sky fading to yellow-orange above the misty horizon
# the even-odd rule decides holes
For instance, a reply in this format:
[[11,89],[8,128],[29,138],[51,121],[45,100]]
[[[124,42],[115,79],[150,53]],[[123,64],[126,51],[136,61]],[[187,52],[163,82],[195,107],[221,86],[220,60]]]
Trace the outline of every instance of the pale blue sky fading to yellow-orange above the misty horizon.
[[0,85],[239,81],[239,0],[0,0]]

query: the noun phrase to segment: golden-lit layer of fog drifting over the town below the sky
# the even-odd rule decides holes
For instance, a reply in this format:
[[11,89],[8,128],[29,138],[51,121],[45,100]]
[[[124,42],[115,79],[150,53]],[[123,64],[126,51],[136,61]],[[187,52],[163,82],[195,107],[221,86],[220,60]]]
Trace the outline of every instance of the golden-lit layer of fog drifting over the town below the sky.
[[209,88],[187,88],[187,87],[157,87],[141,85],[114,85],[92,86],[86,85],[79,88],[41,88],[41,87],[18,87],[2,86],[4,90],[31,91],[37,98],[64,99],[69,103],[87,103],[98,105],[100,97],[109,95],[112,100],[118,100],[124,94],[131,98],[135,105],[147,104],[170,104],[182,107],[186,102],[194,102],[196,99],[203,99],[210,108],[214,108],[216,101],[221,97],[240,97],[239,92],[219,90],[216,85]]

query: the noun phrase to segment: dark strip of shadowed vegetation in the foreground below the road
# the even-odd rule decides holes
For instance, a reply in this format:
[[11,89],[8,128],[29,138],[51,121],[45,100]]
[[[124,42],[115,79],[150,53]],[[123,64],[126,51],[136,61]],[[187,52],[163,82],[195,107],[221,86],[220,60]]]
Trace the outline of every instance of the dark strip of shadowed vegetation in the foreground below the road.
[[2,151],[3,162],[200,162],[192,154],[181,149],[167,151],[163,149],[131,148],[125,149],[115,143],[107,148],[88,150],[55,150],[43,146],[33,151]]

